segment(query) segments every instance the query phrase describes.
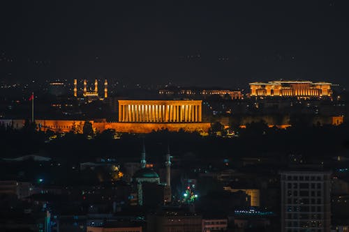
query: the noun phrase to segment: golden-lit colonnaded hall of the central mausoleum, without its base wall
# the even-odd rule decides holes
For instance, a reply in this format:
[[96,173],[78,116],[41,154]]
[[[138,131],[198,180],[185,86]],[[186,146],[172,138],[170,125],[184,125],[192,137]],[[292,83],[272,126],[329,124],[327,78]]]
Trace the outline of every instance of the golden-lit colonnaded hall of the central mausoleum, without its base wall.
[[201,100],[119,100],[121,123],[200,123]]

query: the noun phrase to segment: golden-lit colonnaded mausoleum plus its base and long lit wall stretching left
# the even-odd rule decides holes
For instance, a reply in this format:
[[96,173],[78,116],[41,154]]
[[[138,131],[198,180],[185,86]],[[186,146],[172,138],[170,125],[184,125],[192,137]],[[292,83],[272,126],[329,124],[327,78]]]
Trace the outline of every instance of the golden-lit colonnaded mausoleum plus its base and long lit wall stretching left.
[[[201,100],[119,100],[117,122],[89,120],[95,132],[112,129],[125,133],[150,133],[159,130],[208,132],[210,123],[202,122]],[[117,119],[117,118],[115,118]],[[36,119],[38,130],[82,133],[85,121]],[[1,120],[0,120],[1,123]],[[4,125],[21,128],[24,120],[3,121]]]

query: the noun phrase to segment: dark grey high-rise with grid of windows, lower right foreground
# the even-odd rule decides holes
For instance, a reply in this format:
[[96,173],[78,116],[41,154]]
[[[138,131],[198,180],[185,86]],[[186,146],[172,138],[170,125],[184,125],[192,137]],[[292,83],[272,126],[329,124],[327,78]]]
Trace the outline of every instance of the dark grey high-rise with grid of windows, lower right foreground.
[[281,171],[281,231],[330,231],[330,171]]

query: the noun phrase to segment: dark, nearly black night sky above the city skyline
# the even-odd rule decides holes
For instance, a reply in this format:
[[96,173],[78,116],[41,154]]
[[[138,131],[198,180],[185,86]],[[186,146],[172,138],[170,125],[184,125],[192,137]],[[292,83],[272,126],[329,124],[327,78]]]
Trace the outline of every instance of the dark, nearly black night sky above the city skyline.
[[[30,2],[30,3],[29,3]],[[348,86],[346,1],[1,1],[1,79]]]

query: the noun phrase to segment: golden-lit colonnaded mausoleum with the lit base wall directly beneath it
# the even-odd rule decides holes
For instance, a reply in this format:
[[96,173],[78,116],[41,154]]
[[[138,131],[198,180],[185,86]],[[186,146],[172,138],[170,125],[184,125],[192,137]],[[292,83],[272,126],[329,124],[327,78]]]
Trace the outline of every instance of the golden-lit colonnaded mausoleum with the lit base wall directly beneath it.
[[[207,132],[202,122],[202,100],[119,100],[120,132],[149,133],[157,130]],[[112,126],[112,125],[110,125]]]

